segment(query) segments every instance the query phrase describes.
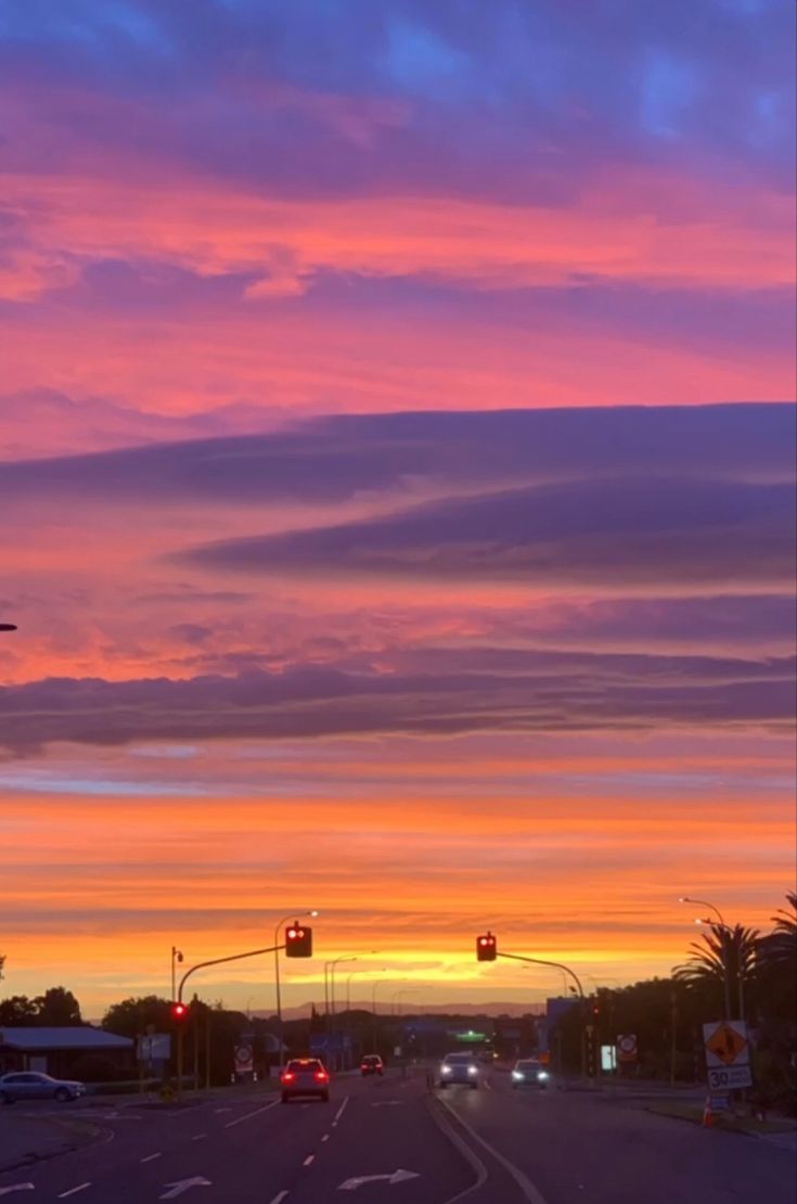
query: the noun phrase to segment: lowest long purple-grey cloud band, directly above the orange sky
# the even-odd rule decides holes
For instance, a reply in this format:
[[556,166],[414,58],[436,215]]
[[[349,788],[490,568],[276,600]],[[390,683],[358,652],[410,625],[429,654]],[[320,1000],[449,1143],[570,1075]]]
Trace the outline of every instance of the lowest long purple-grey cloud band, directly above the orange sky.
[[287,739],[478,731],[787,725],[795,660],[427,650],[395,672],[302,666],[135,681],[48,679],[0,690],[0,744]]

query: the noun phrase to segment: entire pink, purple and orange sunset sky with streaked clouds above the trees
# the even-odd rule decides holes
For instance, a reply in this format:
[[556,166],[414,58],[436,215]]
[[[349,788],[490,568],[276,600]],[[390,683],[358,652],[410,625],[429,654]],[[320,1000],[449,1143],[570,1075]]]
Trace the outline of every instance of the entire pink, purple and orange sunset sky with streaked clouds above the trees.
[[787,0],[0,4],[1,993],[99,1016],[291,908],[288,1005],[342,955],[561,988],[488,926],[590,988],[684,958],[679,895],[767,926],[793,46]]

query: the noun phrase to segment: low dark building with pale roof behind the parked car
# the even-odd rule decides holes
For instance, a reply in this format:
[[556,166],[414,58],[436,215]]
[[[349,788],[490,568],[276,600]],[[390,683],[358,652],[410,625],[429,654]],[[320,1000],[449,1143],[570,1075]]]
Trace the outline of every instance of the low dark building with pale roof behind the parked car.
[[81,1078],[79,1064],[88,1055],[100,1057],[117,1070],[135,1068],[135,1043],[90,1025],[63,1028],[13,1026],[0,1028],[0,1074],[11,1070],[43,1070],[57,1079]]

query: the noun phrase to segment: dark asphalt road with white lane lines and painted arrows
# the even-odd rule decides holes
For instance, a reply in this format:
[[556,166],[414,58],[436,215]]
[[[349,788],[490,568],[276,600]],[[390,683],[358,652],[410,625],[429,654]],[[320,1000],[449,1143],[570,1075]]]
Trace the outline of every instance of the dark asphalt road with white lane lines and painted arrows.
[[[17,1105],[19,1106],[19,1105]],[[329,1104],[219,1097],[82,1108],[90,1147],[0,1174],[0,1200],[79,1204],[795,1204],[793,1153],[506,1074],[430,1094],[425,1075],[340,1078]],[[76,1114],[77,1115],[77,1114]],[[30,1185],[30,1186],[28,1186]]]

